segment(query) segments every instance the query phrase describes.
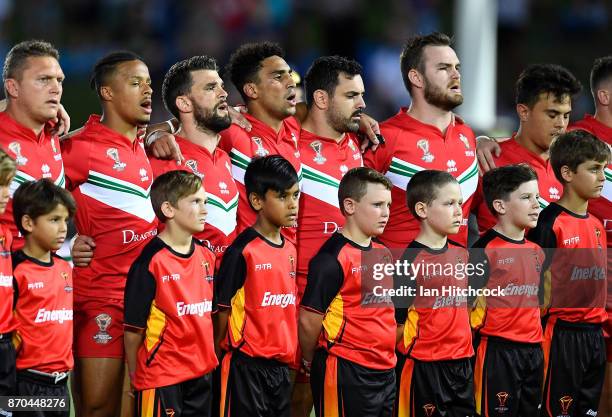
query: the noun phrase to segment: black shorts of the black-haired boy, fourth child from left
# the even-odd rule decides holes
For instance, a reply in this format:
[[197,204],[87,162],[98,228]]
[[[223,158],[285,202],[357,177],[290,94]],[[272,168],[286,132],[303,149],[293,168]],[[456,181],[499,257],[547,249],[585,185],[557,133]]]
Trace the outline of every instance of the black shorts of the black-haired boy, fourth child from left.
[[289,417],[291,381],[285,363],[252,358],[239,350],[221,363],[223,417]]

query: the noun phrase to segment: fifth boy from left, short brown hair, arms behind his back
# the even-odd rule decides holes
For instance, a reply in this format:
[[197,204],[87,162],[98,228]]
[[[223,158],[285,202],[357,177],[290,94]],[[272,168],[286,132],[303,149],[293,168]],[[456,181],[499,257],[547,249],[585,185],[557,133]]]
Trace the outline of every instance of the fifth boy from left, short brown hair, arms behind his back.
[[312,361],[317,417],[393,414],[393,303],[376,299],[368,305],[372,293],[364,294],[370,265],[391,259],[382,244],[372,241],[389,219],[391,188],[391,181],[371,168],[347,172],[338,189],[344,228],[310,261],[299,339],[307,371]]

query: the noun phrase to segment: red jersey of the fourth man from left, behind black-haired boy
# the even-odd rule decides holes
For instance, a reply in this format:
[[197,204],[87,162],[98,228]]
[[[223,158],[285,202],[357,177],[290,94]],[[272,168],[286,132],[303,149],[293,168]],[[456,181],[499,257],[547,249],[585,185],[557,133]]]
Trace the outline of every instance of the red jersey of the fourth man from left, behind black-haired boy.
[[[238,193],[238,228],[240,233],[247,227],[255,224],[257,213],[249,205],[244,188],[244,173],[252,158],[281,155],[287,159],[298,174],[298,181],[302,180],[302,164],[300,163],[300,151],[298,149],[298,138],[300,137],[300,125],[295,117],[287,117],[283,120],[281,128],[275,132],[267,124],[250,114],[244,115],[251,123],[251,131],[232,124],[221,132],[219,147],[227,152],[232,161],[232,175],[236,180]],[[300,187],[301,188],[301,187]],[[293,244],[296,242],[296,228],[283,228],[283,235]]]

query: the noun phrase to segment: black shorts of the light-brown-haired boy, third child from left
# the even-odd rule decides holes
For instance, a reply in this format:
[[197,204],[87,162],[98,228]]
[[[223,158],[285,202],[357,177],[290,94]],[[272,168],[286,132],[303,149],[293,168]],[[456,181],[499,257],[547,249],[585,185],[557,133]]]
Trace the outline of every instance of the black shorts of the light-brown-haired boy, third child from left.
[[211,417],[210,373],[178,384],[136,392],[135,417]]

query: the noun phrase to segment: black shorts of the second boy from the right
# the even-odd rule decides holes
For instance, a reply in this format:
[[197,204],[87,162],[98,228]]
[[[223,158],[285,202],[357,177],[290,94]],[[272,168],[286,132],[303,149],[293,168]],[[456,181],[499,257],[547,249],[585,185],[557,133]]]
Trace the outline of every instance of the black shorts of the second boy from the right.
[[476,414],[537,416],[542,402],[544,354],[540,343],[480,339],[474,367]]

